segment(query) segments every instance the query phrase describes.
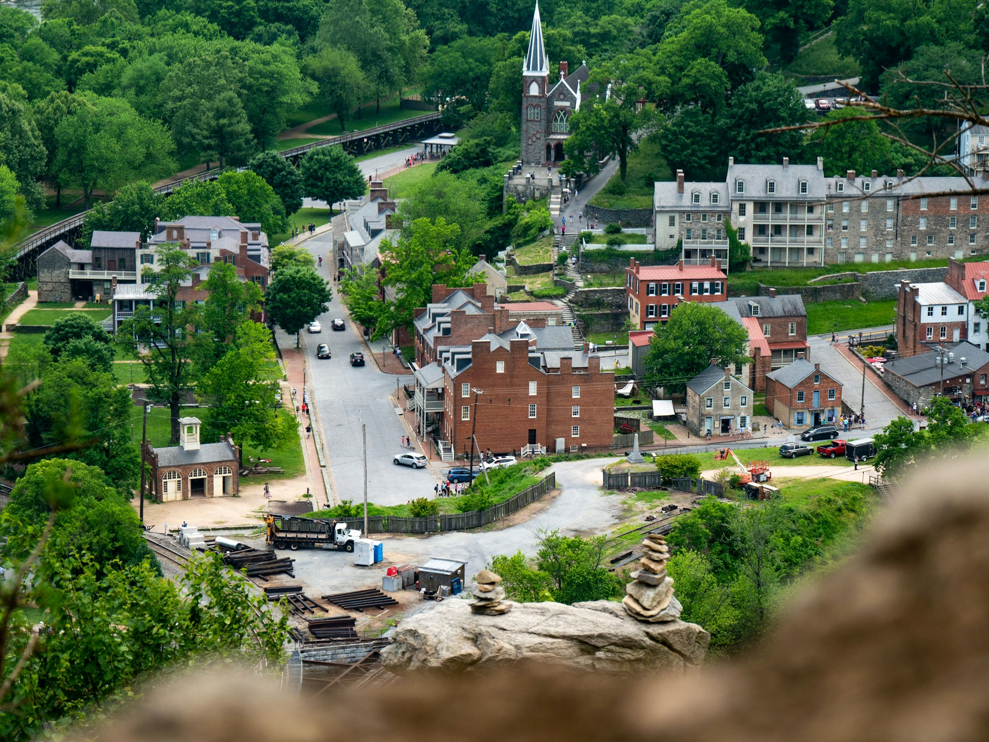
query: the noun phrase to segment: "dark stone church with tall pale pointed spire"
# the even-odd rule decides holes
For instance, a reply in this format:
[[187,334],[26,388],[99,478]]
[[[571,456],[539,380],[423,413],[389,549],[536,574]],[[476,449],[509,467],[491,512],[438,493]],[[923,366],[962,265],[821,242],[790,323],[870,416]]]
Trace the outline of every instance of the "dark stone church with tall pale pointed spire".
[[532,16],[529,50],[522,65],[522,163],[552,165],[564,160],[563,143],[570,136],[570,117],[581,109],[581,85],[586,85],[586,64],[568,73],[560,62],[560,79],[550,88],[550,64],[543,43],[539,3]]

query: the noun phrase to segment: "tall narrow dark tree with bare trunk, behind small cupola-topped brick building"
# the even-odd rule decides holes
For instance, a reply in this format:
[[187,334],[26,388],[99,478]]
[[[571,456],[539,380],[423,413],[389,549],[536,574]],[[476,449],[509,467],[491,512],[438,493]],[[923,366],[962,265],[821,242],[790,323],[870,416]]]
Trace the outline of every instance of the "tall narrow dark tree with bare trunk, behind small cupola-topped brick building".
[[[179,291],[188,284],[196,261],[173,245],[158,249],[157,270],[145,268],[145,290],[155,296],[153,306],[140,305],[117,332],[122,343],[144,367],[150,386],[147,396],[168,405],[171,442],[179,441],[182,398],[193,388],[195,329],[200,325],[200,308],[192,302],[181,304]],[[147,353],[141,354],[141,346]]]

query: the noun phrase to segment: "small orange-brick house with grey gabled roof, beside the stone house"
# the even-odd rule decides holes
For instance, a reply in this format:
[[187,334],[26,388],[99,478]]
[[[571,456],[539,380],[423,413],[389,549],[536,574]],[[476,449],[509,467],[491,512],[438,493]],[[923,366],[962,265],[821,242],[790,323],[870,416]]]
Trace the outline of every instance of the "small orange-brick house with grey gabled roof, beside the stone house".
[[834,423],[842,414],[842,382],[801,357],[765,377],[765,406],[784,428]]

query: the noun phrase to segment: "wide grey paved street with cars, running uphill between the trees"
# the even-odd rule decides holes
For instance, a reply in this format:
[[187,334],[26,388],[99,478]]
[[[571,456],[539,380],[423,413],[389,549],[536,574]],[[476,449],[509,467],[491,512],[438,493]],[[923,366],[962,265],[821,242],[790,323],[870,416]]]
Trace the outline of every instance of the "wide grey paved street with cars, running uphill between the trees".
[[[332,233],[324,232],[307,240],[314,255],[323,256],[319,273],[329,278],[326,260],[331,252]],[[333,332],[330,320],[343,318],[343,332]],[[402,453],[399,443],[407,431],[389,399],[395,392],[396,379],[411,382],[411,376],[395,376],[378,371],[367,358],[364,367],[350,366],[350,353],[367,349],[351,325],[343,302],[334,291],[329,311],[321,315],[322,333],[310,335],[303,331],[309,368],[312,370],[310,388],[315,395],[315,410],[322,424],[324,450],[332,469],[331,482],[337,497],[355,502],[364,497],[364,462],[361,455],[361,421],[367,424],[368,500],[380,505],[400,505],[415,497],[432,497],[436,483],[426,469],[413,471],[396,466],[393,459]],[[315,348],[326,343],[332,352],[328,361],[315,357]]]

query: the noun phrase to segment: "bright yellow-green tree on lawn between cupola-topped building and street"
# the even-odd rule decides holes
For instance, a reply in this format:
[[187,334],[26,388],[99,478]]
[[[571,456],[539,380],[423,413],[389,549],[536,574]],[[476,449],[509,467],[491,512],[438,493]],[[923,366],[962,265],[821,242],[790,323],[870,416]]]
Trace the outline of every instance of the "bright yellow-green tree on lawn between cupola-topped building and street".
[[257,322],[242,322],[233,342],[200,381],[198,394],[209,405],[206,428],[216,437],[229,434],[240,447],[274,449],[296,435],[292,418],[279,414],[279,381],[271,332]]

